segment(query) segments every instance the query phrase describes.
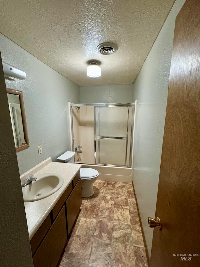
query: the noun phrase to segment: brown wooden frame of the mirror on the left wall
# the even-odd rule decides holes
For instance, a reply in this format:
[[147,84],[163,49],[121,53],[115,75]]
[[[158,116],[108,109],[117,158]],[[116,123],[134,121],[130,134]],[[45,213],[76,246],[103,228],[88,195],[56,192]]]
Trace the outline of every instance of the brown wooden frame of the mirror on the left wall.
[[[19,90],[14,90],[11,88],[6,88],[8,94],[13,95],[19,95],[19,103],[20,103],[20,109],[22,114],[22,124],[23,124],[23,131],[24,131],[24,140],[26,142],[25,145],[17,146],[15,147],[16,152],[22,151],[24,149],[27,149],[29,147],[29,140],[28,140],[28,130],[27,130],[27,123],[26,123],[26,115],[25,115],[25,109],[24,109],[24,100],[23,100],[23,93]],[[14,136],[13,136],[14,138]]]

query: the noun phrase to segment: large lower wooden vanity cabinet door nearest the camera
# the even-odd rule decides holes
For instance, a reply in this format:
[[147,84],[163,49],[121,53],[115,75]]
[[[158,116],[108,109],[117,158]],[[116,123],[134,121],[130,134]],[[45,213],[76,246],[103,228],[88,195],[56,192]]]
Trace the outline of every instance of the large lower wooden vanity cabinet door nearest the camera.
[[66,242],[66,218],[63,207],[33,256],[34,267],[56,267]]

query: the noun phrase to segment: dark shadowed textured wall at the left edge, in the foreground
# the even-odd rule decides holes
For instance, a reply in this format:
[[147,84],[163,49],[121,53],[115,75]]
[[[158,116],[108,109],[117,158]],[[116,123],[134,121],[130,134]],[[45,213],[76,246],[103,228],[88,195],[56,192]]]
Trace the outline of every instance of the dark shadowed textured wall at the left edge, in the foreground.
[[31,247],[1,58],[0,136],[0,266],[32,267]]

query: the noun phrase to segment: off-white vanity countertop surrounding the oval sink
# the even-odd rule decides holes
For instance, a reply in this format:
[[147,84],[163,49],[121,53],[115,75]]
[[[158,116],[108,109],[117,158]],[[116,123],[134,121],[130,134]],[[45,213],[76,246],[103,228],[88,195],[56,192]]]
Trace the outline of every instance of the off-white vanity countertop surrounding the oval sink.
[[[41,162],[42,163],[42,162]],[[47,218],[47,215],[53,209],[59,198],[62,196],[70,182],[72,182],[75,175],[81,168],[81,164],[76,163],[61,163],[61,162],[50,162],[47,166],[43,167],[38,172],[33,172],[37,177],[37,174],[55,172],[63,176],[64,183],[62,187],[47,198],[43,198],[33,202],[24,202],[27,226],[29,238],[31,239],[36,233],[38,228],[41,226],[43,221]],[[34,168],[33,168],[34,169]]]

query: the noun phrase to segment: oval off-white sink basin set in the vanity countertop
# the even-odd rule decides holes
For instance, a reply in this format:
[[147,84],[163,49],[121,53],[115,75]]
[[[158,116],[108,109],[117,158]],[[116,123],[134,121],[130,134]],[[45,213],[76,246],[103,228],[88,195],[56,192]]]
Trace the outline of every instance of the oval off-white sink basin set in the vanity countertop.
[[36,181],[22,187],[24,202],[36,201],[46,198],[60,189],[64,179],[58,173],[38,174]]

